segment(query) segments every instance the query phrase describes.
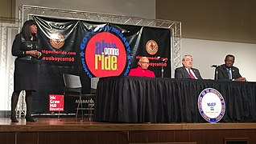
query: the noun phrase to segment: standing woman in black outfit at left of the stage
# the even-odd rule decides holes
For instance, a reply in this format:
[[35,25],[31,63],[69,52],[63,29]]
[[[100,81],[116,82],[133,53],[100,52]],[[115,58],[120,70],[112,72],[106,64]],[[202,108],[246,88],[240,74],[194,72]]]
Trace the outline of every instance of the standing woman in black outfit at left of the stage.
[[17,58],[14,64],[14,92],[11,96],[11,122],[19,122],[16,118],[15,108],[21,90],[26,91],[26,121],[35,122],[35,119],[31,117],[32,92],[37,90],[39,58],[42,55],[39,51],[36,32],[35,21],[28,20],[24,22],[22,31],[16,35],[12,45],[11,53]]

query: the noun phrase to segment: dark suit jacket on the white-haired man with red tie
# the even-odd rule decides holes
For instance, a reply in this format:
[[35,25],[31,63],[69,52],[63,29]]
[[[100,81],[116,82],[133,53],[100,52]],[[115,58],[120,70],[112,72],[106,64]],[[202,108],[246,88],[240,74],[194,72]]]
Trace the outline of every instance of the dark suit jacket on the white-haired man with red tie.
[[[196,75],[196,78],[198,79],[202,79],[199,70],[195,69],[195,68],[191,68],[191,70],[194,72],[194,74]],[[182,67],[178,67],[175,69],[175,78],[187,78],[187,79],[191,79],[188,71],[186,70],[185,66]]]

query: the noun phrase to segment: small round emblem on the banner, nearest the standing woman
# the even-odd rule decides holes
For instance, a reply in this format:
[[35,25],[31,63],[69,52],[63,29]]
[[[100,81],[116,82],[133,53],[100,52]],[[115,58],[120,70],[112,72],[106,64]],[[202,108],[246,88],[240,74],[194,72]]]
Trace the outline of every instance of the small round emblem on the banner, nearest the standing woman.
[[64,46],[65,38],[62,34],[51,34],[50,36],[50,44],[52,47],[56,49],[60,49]]

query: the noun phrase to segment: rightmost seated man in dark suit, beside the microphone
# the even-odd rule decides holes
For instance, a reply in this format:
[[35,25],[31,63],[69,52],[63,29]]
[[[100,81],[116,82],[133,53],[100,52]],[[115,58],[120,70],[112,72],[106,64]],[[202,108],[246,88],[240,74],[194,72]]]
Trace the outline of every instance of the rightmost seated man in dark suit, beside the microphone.
[[233,66],[234,59],[231,54],[225,56],[225,64],[217,67],[215,79],[246,82],[246,78],[242,78],[239,69]]

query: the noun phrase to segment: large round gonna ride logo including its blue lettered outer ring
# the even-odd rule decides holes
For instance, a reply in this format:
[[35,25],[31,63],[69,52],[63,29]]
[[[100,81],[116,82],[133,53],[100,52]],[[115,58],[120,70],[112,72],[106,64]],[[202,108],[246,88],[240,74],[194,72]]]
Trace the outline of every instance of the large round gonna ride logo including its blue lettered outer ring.
[[87,31],[80,49],[81,64],[89,78],[128,75],[130,71],[130,44],[113,26]]

